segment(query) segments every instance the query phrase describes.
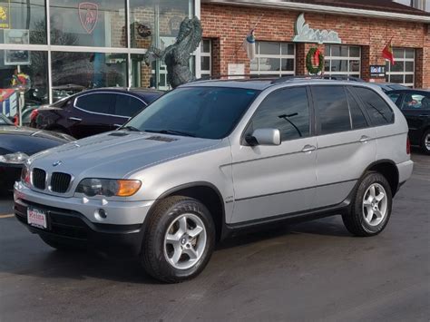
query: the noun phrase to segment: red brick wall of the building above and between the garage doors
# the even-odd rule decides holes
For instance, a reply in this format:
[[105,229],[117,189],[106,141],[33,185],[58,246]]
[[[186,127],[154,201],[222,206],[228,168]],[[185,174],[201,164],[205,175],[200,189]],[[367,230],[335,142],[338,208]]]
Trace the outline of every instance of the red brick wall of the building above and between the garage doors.
[[[291,42],[294,36],[294,24],[299,12],[239,7],[233,5],[201,4],[201,22],[203,36],[216,40],[219,44],[214,64],[220,65],[214,71],[227,73],[228,63],[245,63],[245,71],[249,73],[249,59],[240,48],[249,29],[260,15],[264,14],[256,30],[256,38],[260,41]],[[430,28],[428,25],[341,15],[320,15],[306,13],[306,22],[313,29],[332,29],[339,34],[342,44],[358,44],[362,46],[362,77],[368,79],[369,64],[385,64],[381,52],[388,40],[393,36],[395,47],[415,48],[416,87],[430,87]],[[308,49],[315,44],[297,44],[296,70],[305,73],[305,57]],[[324,50],[324,45],[319,45]]]

